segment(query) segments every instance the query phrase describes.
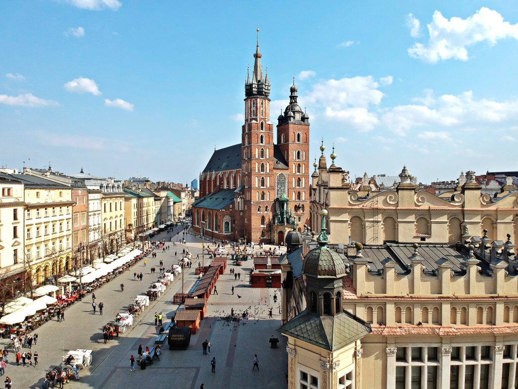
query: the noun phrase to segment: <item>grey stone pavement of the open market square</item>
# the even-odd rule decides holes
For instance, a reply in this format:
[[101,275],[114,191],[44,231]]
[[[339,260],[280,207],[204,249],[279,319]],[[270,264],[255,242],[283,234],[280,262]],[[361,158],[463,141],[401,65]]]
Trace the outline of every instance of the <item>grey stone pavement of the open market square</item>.
[[[182,232],[178,237],[183,237]],[[162,239],[166,241],[169,239],[167,233],[161,233],[153,238],[153,240]],[[243,267],[236,267],[236,271],[240,270],[242,274],[240,281],[235,281],[234,276],[229,275],[229,269],[232,266],[227,267],[226,274],[220,276],[217,283],[219,294],[210,296],[208,318],[202,321],[198,333],[191,337],[191,344],[187,350],[170,351],[165,344],[161,362],[155,362],[146,370],[140,370],[137,366],[135,372],[130,372],[130,355],[137,355],[138,345],[149,345],[151,348],[154,344],[157,334],[154,312],[161,311],[170,318],[178,308],[170,301],[172,296],[181,290],[181,276],[176,277],[166,293],[162,294],[157,301],[152,301],[143,314],[135,317],[135,324],[126,334],[107,344],[103,343],[102,326],[112,320],[117,312],[123,311],[127,304],[132,302],[134,296],[147,290],[149,283],[156,279],[155,275],[150,274],[152,266],[159,267],[161,259],[164,260],[166,267],[171,263],[177,263],[184,247],[189,247],[194,257],[201,252],[202,243],[199,238],[186,234],[185,239],[187,241],[185,246],[180,244],[174,246],[170,242],[168,251],[165,253],[157,251],[156,258],[147,258],[146,267],[143,267],[141,261],[132,270],[97,289],[96,301],[104,302],[104,316],[98,313],[93,315],[92,298],[88,295],[83,301],[76,302],[65,311],[65,322],[57,323],[54,320],[38,328],[36,331],[39,334],[38,345],[33,345],[32,348],[32,352],[37,350],[40,356],[37,367],[16,366],[16,363],[13,363],[14,354],[11,352],[9,355],[6,374],[13,381],[13,389],[41,387],[46,371],[59,364],[64,353],[75,349],[93,350],[93,362],[92,366],[81,370],[79,381],[70,381],[66,384],[68,389],[122,386],[128,389],[140,389],[143,385],[153,387],[164,383],[191,389],[198,388],[202,383],[205,384],[206,389],[286,387],[285,342],[276,332],[280,326],[279,303],[274,304],[272,298],[276,291],[250,288],[248,272],[252,266],[251,262],[248,267],[247,262],[244,262]],[[174,255],[175,251],[178,253],[177,257]],[[187,291],[194,284],[196,276],[194,267],[185,270],[184,290]],[[134,271],[142,272],[144,281],[134,281]],[[120,283],[125,285],[123,293],[119,291]],[[235,295],[232,295],[231,291],[233,285]],[[238,295],[241,298],[238,298]],[[278,292],[277,295],[279,296]],[[234,325],[219,318],[224,313],[229,313],[232,308],[237,313],[248,310],[249,323]],[[268,319],[269,308],[273,309],[273,319]],[[281,340],[278,349],[269,348],[268,340],[271,335]],[[201,344],[205,339],[209,339],[212,344],[210,355],[203,355],[202,352]],[[2,346],[7,343],[7,340],[3,340]],[[12,349],[9,350],[12,351]],[[257,354],[260,361],[261,371],[259,372],[251,371],[254,354]],[[211,374],[210,367],[210,359],[213,356],[217,360],[215,374]]]

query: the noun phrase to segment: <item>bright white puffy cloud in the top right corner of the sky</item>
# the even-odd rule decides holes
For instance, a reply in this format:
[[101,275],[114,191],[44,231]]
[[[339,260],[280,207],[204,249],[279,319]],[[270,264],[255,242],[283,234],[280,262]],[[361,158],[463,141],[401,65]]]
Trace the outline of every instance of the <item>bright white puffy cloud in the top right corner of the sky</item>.
[[440,11],[435,11],[428,33],[426,44],[415,43],[408,49],[410,57],[430,63],[448,59],[467,61],[468,46],[482,41],[495,45],[503,38],[518,39],[518,23],[505,22],[500,13],[486,7],[466,19],[448,20]]

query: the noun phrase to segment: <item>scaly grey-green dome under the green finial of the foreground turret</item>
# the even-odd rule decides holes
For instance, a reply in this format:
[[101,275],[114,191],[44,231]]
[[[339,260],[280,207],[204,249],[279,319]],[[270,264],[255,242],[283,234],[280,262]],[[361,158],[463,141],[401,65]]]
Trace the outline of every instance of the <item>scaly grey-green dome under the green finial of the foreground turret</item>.
[[336,251],[319,246],[306,255],[303,270],[306,275],[338,278],[346,275],[346,264]]

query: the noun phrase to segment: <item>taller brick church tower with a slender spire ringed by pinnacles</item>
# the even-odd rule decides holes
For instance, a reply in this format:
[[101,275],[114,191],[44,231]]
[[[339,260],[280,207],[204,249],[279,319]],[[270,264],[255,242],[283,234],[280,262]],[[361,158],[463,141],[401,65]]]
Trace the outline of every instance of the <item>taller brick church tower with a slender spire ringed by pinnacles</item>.
[[[269,241],[264,233],[275,196],[274,129],[270,122],[270,79],[263,74],[259,51],[259,29],[252,77],[244,84],[244,124],[241,134],[241,170],[244,185],[243,217],[247,241]],[[264,224],[263,224],[264,223]],[[249,230],[248,230],[249,229]]]

